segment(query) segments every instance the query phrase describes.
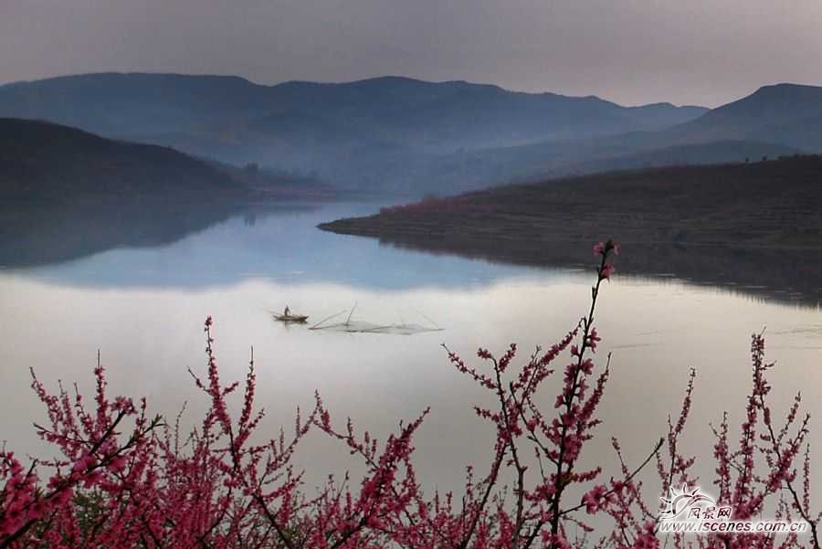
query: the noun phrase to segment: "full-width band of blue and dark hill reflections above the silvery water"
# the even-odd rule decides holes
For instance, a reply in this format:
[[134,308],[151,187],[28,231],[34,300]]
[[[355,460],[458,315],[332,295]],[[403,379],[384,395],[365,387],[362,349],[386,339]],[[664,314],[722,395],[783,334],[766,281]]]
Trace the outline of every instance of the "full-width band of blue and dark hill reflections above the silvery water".
[[[369,215],[378,208],[157,203],[41,207],[0,215],[0,266],[29,277],[94,287],[194,288],[262,278],[403,289],[487,284],[523,272],[550,276],[557,269],[585,269],[590,259],[587,242],[386,240],[376,246],[369,238],[315,229],[329,219]],[[651,278],[655,284],[685,281],[754,300],[822,306],[822,255],[815,250],[659,243],[628,243],[623,249],[618,259],[623,277]]]

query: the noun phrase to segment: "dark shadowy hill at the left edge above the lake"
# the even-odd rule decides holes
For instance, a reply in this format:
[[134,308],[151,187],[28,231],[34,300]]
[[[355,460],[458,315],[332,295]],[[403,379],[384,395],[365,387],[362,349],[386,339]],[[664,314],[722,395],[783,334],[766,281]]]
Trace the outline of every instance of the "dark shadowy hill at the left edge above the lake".
[[0,197],[240,197],[226,173],[156,145],[111,141],[43,121],[0,119]]

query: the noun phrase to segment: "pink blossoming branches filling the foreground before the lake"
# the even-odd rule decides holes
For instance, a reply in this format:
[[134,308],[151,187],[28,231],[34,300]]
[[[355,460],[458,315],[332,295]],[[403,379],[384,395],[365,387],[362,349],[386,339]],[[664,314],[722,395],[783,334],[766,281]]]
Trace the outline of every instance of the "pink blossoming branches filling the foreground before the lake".
[[[358,433],[350,419],[337,425],[316,395],[288,432],[259,442],[265,438],[258,432],[263,412],[255,403],[253,351],[244,383],[224,383],[208,318],[206,369],[192,376],[210,406],[185,437],[179,417],[152,417],[144,399],[111,399],[99,360],[88,405],[77,390],[61,386],[49,393],[32,372],[48,416],[37,432],[61,458],[24,463],[5,446],[0,450],[0,548],[818,548],[808,417],[800,413],[798,395],[782,422],[772,416],[766,374],[773,364],[764,362],[762,335],[752,340],[752,389],[738,438],[727,414],[714,428],[713,484],[734,519],[774,512],[777,519],[806,521],[808,533],[660,533],[659,496],[671,485],[696,481],[690,472],[695,458],[680,449],[693,371],[668,432],[649,441],[647,459],[627,463],[612,439],[613,464],[582,466],[585,447],[602,429],[597,410],[610,356],[597,367],[595,308],[618,251],[611,241],[595,245],[598,264],[585,316],[522,364],[516,345],[501,355],[479,349],[479,364],[446,349],[453,367],[494,403],[475,407],[496,436],[487,462],[467,467],[463,493],[427,494],[416,477],[413,438],[427,410],[380,442]],[[236,417],[228,406],[235,394],[241,401]],[[320,491],[305,491],[291,461],[311,429],[362,459],[363,478],[329,476]],[[646,486],[639,472],[654,465],[659,485]]]

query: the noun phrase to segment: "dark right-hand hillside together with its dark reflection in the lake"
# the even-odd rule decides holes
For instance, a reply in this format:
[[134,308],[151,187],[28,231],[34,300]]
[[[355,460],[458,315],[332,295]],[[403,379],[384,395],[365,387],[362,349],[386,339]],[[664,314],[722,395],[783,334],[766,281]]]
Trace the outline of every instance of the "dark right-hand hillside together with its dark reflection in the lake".
[[594,174],[340,219],[324,230],[403,248],[536,266],[589,266],[615,238],[620,272],[677,276],[822,304],[822,156]]

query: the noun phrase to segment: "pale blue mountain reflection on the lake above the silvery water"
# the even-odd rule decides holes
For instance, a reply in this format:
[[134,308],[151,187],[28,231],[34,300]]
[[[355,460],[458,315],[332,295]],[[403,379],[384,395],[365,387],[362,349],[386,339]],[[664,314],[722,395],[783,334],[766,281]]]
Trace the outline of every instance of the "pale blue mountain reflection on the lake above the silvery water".
[[[118,234],[119,229],[113,230],[111,245],[100,249],[91,248],[99,241],[88,240],[72,248],[75,241],[61,238],[68,232],[61,219],[49,231],[53,238],[49,249],[29,249],[25,261],[19,255],[3,253],[0,264],[5,264],[7,271],[26,277],[98,288],[192,289],[266,279],[337,281],[361,287],[402,289],[488,283],[522,272],[522,268],[481,260],[397,252],[380,247],[375,241],[341,237],[315,228],[333,216],[364,214],[378,207],[290,205],[257,208],[234,216],[226,216],[224,209],[177,208],[174,216],[182,216],[185,222],[161,223],[151,216],[143,218],[145,226],[138,228],[132,219],[126,235]],[[191,222],[195,218],[198,223]],[[203,226],[208,230],[203,231]],[[157,227],[163,227],[162,231]],[[85,234],[89,232],[84,229]],[[164,235],[162,243],[158,242],[158,232]],[[42,254],[37,256],[38,252]],[[66,256],[72,259],[55,260]]]

